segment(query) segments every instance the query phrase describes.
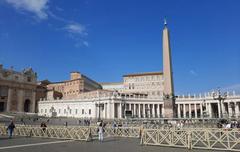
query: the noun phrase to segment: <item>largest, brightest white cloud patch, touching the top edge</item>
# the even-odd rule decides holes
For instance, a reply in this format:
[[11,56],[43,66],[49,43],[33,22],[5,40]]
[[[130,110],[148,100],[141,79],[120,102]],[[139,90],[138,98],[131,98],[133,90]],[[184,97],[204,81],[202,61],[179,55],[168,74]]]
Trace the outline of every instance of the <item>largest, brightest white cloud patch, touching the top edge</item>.
[[35,14],[39,19],[47,19],[49,0],[5,0],[17,10],[28,11]]

